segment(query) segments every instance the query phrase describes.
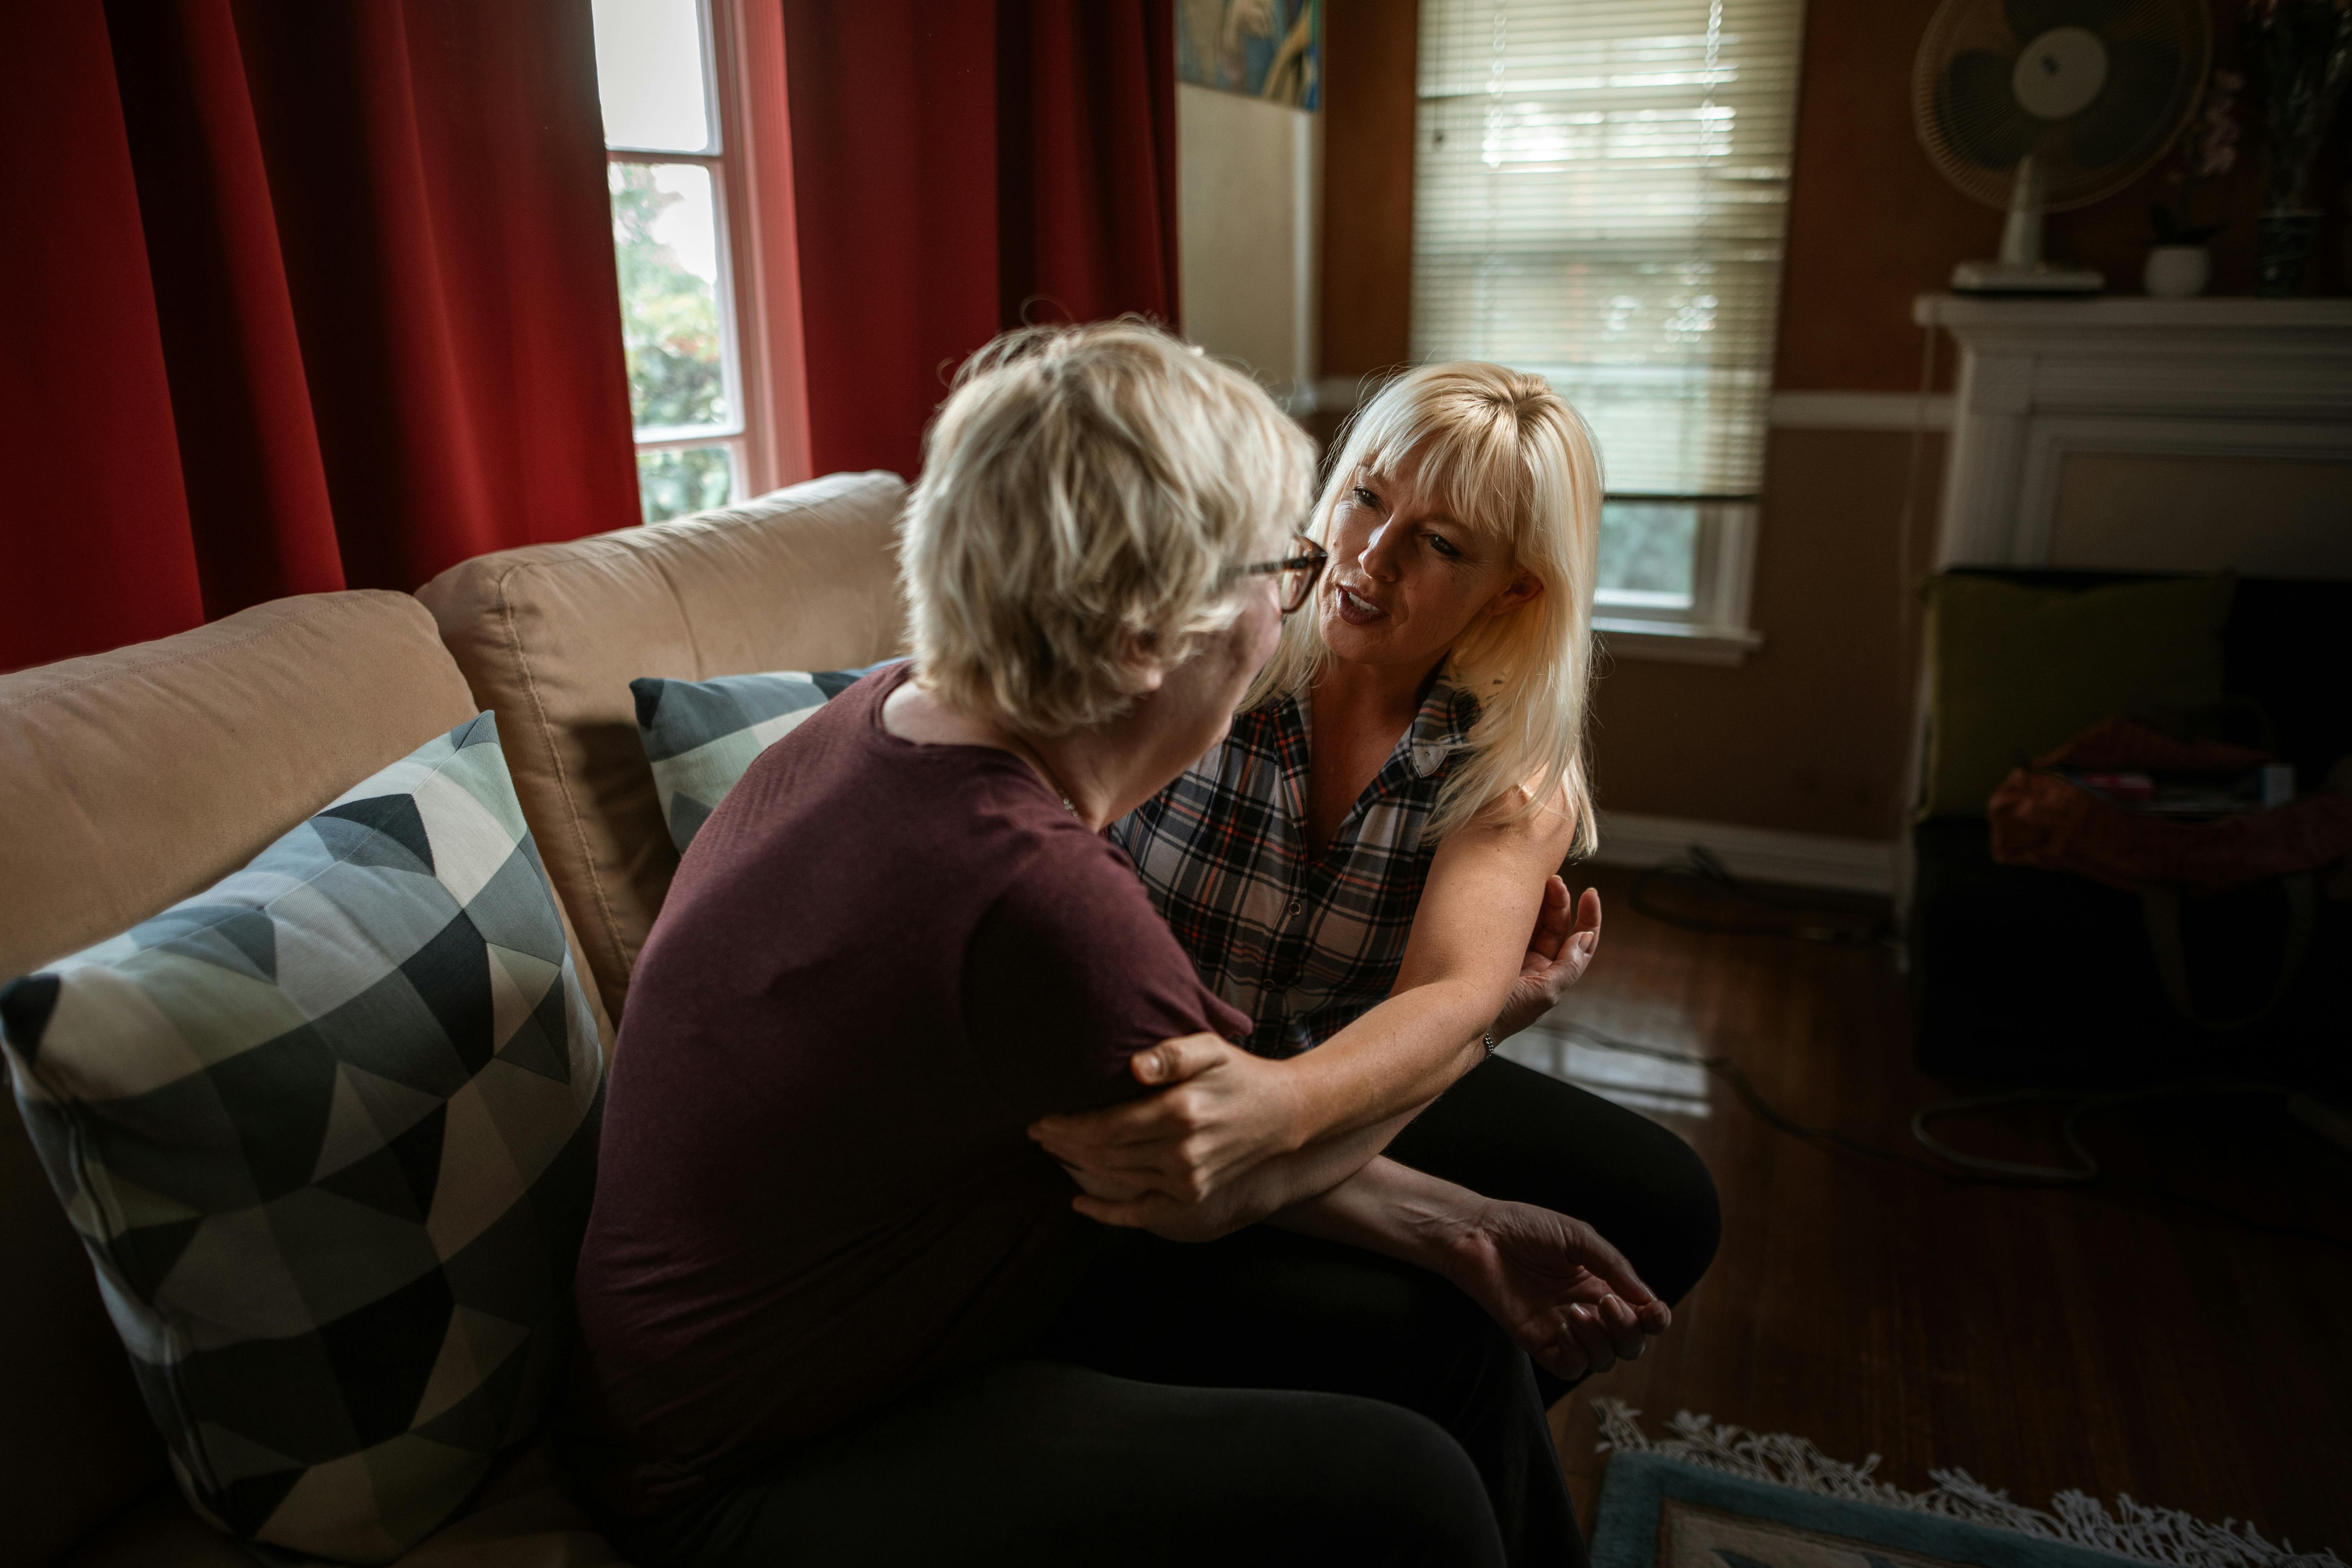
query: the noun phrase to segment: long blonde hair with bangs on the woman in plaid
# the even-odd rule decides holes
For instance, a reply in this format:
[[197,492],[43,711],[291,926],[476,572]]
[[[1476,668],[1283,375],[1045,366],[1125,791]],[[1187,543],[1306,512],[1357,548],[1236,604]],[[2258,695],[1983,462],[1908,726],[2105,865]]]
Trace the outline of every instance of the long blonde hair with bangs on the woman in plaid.
[[[1515,795],[1503,820],[1522,820],[1566,792],[1573,853],[1588,856],[1599,846],[1585,764],[1602,531],[1592,433],[1543,376],[1477,362],[1406,371],[1350,421],[1315,503],[1312,538],[1329,545],[1331,512],[1359,473],[1411,465],[1446,515],[1508,541],[1517,569],[1543,583],[1526,604],[1472,621],[1454,642],[1449,672],[1479,701],[1479,717],[1428,832],[1444,835]],[[1291,616],[1242,705],[1303,698],[1329,656],[1319,616]]]

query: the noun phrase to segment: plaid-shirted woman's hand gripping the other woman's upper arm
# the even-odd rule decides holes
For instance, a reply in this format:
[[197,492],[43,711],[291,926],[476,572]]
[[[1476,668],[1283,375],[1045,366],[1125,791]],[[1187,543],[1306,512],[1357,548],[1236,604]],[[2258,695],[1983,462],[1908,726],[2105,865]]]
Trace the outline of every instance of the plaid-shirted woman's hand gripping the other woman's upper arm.
[[1155,1192],[1176,1204],[1202,1204],[1254,1166],[1305,1143],[1284,1063],[1251,1056],[1216,1034],[1183,1034],[1136,1051],[1127,1067],[1138,1084],[1162,1086],[1160,1093],[1075,1117],[1044,1117],[1028,1128],[1089,1192]]

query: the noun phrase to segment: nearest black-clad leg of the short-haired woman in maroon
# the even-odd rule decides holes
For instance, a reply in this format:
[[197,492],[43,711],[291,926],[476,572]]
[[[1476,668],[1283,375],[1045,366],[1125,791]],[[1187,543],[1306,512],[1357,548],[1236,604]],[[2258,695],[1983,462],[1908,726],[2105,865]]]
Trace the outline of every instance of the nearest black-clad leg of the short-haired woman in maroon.
[[1056,1361],[934,1385],[604,1528],[640,1568],[1503,1563],[1477,1472],[1423,1415]]

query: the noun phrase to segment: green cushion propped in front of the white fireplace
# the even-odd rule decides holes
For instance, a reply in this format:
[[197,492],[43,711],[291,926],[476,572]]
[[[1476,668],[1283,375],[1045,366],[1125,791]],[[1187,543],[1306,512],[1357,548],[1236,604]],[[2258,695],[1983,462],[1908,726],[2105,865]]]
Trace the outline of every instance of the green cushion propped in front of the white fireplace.
[[2237,578],[2020,588],[1929,583],[1929,743],[1919,816],[1985,816],[2023,757],[2100,719],[2220,701]]

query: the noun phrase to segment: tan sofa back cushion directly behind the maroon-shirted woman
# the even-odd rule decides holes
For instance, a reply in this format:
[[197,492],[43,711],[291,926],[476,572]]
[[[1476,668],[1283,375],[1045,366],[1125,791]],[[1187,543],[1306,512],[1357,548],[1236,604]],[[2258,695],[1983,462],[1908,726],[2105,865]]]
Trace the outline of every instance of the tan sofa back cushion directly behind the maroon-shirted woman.
[[628,684],[894,654],[903,494],[896,475],[830,475],[736,510],[501,550],[416,590],[499,715],[522,813],[614,1018],[677,870]]

